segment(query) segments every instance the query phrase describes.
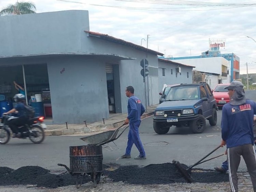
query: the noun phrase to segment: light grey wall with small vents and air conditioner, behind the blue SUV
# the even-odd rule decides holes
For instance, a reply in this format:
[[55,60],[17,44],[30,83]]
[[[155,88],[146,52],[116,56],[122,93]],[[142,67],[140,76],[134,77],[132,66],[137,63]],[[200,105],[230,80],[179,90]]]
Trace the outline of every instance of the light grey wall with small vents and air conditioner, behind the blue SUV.
[[[163,84],[173,85],[180,83],[192,82],[192,67],[181,67],[181,73],[176,75],[176,64],[171,64],[163,61],[158,61],[158,75],[159,75],[159,92],[162,92]],[[165,69],[165,76],[162,75],[162,69]],[[172,74],[171,74],[172,70]],[[187,76],[188,73],[188,76]]]

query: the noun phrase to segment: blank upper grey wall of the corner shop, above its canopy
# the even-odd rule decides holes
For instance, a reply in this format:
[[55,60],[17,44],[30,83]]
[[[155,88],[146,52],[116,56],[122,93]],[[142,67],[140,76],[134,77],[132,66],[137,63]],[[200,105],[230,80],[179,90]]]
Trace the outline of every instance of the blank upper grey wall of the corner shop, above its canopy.
[[79,52],[89,30],[88,11],[59,11],[0,17],[0,56]]

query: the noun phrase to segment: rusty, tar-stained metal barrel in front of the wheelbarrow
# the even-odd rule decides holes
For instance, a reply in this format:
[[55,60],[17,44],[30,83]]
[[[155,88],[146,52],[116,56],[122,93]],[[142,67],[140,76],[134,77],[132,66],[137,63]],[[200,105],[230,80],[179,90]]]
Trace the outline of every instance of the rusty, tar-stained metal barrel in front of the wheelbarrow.
[[70,170],[73,173],[91,173],[102,171],[102,146],[70,146]]

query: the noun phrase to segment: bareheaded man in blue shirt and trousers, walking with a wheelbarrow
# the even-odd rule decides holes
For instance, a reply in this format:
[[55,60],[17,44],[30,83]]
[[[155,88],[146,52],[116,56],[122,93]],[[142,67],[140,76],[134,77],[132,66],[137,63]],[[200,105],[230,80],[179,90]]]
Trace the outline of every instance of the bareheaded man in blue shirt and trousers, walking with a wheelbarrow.
[[140,154],[134,159],[146,159],[146,154],[139,135],[139,126],[141,123],[140,117],[145,112],[145,108],[141,104],[140,99],[134,96],[134,88],[132,86],[126,87],[125,94],[126,97],[129,97],[128,116],[125,120],[125,124],[129,123],[130,129],[128,133],[126,151],[125,154],[121,156],[121,158],[131,158],[131,148],[132,145],[135,144]]

